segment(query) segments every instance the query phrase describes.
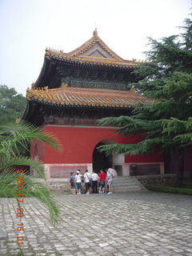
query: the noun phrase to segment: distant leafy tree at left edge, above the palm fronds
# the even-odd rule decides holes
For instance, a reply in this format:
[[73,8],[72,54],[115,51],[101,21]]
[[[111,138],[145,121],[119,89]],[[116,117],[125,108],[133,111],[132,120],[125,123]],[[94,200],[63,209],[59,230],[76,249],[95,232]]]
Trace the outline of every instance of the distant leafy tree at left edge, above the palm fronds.
[[0,123],[14,122],[20,118],[26,106],[26,98],[14,88],[0,85]]

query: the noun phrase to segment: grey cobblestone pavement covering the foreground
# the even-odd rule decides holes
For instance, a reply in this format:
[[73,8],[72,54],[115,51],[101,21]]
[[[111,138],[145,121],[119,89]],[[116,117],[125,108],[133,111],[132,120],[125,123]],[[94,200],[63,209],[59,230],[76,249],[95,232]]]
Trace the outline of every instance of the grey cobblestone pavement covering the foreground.
[[0,255],[192,255],[192,197],[149,191],[125,194],[58,195],[59,226],[50,224],[45,206],[24,204],[23,254],[16,242],[16,203],[0,199],[0,227],[8,241]]

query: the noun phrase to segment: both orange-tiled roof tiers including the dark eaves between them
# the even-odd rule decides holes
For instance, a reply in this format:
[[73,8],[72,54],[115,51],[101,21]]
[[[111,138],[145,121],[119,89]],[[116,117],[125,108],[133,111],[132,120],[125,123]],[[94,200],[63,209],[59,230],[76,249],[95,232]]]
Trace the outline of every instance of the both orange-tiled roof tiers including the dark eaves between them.
[[139,102],[150,104],[142,94],[129,90],[129,83],[137,80],[131,73],[137,67],[135,60],[124,60],[110,50],[97,30],[70,53],[46,49],[38,80],[26,91],[22,118],[42,125],[44,115],[52,113],[70,116],[77,111],[81,116],[83,112],[82,119],[84,114],[93,118],[92,110],[97,118],[130,113]]

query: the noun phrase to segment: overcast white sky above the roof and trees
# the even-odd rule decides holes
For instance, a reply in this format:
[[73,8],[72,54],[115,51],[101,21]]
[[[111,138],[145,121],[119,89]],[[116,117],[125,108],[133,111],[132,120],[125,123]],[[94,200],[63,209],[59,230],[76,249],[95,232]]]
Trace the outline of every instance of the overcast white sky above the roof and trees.
[[98,36],[125,59],[144,59],[147,37],[178,34],[191,0],[0,0],[0,84],[26,94],[46,47],[70,52]]

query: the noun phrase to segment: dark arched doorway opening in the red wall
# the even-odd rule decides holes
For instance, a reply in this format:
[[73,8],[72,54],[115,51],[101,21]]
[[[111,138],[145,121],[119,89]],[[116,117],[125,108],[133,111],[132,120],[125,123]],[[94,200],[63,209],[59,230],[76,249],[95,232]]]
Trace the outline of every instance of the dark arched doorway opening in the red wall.
[[99,170],[106,170],[107,168],[112,168],[112,155],[106,156],[105,153],[99,152],[97,150],[97,147],[102,145],[105,145],[105,144],[102,142],[99,142],[94,148],[93,170],[95,170],[96,173],[98,173]]

